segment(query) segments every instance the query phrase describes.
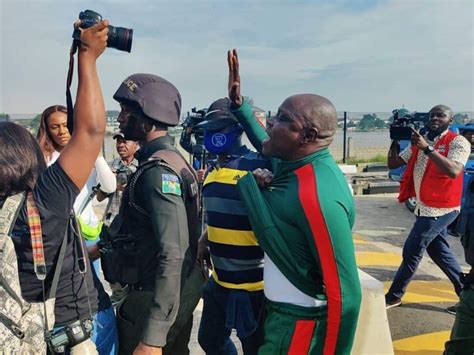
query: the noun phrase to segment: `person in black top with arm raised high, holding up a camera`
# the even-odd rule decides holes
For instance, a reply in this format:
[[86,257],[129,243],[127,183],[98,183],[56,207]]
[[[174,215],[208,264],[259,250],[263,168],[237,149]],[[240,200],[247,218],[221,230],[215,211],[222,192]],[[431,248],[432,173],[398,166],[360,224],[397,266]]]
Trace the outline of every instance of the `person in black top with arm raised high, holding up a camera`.
[[[17,218],[7,222],[13,226],[11,238],[2,238],[11,239],[13,254],[18,256],[17,264],[16,255],[6,255],[14,258],[6,259],[10,262],[7,265],[2,263],[0,269],[1,273],[5,271],[4,267],[11,268],[11,271],[16,269],[16,264],[18,267],[10,274],[7,270],[7,275],[1,275],[8,280],[7,283],[0,283],[0,312],[3,318],[0,322],[0,343],[5,353],[45,353],[45,334],[53,350],[58,332],[62,333],[61,341],[66,340],[66,351],[74,348],[83,354],[96,353],[90,341],[90,318],[92,312],[97,310],[97,292],[90,270],[81,267],[88,264],[87,254],[82,239],[75,233],[70,212],[94,167],[105,133],[105,108],[96,61],[106,47],[107,25],[108,21],[101,21],[80,30],[75,130],[56,163],[46,168],[40,147],[28,131],[13,123],[0,123],[2,213],[5,206],[11,206],[14,199],[22,196],[21,200],[17,200]],[[31,244],[25,242],[29,240]],[[82,263],[79,257],[83,258]],[[60,258],[62,266],[56,268],[61,264],[58,261]],[[59,274],[56,274],[58,269]],[[56,300],[51,303],[54,300],[48,299],[46,303],[46,298],[52,297],[50,291],[56,280],[53,280],[53,275],[59,276]],[[16,302],[21,300],[21,316],[15,319],[11,313],[14,302],[8,302],[7,307],[6,301],[12,300],[8,295],[15,290],[18,282],[21,292],[14,298]],[[29,303],[28,308],[24,307],[24,301]],[[49,323],[54,318],[50,317],[52,314],[49,314],[48,308],[53,304],[55,327],[51,331]],[[47,309],[47,320],[43,309]],[[5,318],[12,322],[5,322]]]

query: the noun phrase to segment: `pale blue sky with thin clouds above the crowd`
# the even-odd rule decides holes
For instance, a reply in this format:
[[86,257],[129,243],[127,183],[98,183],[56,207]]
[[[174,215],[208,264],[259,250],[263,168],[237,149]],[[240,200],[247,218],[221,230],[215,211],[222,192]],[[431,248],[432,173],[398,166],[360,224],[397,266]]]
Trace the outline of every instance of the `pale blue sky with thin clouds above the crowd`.
[[[181,92],[183,112],[227,95],[226,51],[239,51],[242,94],[264,110],[315,93],[338,111],[474,111],[474,1],[0,0],[0,112],[65,104],[72,23],[81,10],[134,29],[132,52],[108,48],[106,108],[133,73]],[[75,72],[77,77],[77,70]],[[73,83],[75,91],[76,82]]]

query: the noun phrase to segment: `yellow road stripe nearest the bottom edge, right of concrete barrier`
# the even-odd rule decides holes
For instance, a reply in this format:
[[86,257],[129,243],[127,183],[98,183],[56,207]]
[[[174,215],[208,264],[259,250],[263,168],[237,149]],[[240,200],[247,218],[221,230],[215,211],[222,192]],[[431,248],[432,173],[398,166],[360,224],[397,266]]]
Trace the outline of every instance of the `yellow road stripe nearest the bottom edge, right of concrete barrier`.
[[393,342],[395,355],[439,355],[444,351],[444,343],[449,340],[451,331],[417,335]]

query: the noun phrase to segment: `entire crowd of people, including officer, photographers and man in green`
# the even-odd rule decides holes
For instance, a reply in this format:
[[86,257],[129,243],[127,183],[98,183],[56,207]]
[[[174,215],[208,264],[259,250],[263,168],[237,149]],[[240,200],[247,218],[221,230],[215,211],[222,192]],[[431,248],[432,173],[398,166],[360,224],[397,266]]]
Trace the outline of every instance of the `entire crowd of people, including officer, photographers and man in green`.
[[[113,96],[119,158],[107,164],[96,69],[107,25],[80,30],[72,132],[60,105],[43,112],[37,139],[0,123],[3,351],[189,354],[202,297],[198,341],[206,354],[237,354],[232,330],[245,354],[350,354],[362,295],[355,206],[328,148],[334,105],[293,95],[263,127],[241,95],[237,51],[229,51],[228,97],[199,123],[215,159],[198,176],[168,135],[180,120],[178,89],[133,74]],[[462,274],[446,227],[461,213],[472,265],[472,193],[460,211],[471,148],[448,130],[448,107],[435,106],[430,117],[425,137],[414,132],[410,148],[389,152],[390,167],[408,163],[401,201],[419,202],[386,303],[401,304],[426,250],[461,297],[447,345],[454,354],[473,341],[474,277]],[[244,132],[256,151],[242,144]],[[97,216],[91,201],[107,198]]]

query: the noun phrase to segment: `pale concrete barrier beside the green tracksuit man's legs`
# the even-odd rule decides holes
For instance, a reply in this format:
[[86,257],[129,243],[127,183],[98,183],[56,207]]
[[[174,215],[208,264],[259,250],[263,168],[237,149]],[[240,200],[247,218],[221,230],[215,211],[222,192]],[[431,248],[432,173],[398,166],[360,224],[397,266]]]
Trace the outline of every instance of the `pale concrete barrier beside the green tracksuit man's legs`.
[[359,269],[362,304],[352,355],[393,355],[383,284]]

